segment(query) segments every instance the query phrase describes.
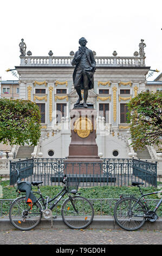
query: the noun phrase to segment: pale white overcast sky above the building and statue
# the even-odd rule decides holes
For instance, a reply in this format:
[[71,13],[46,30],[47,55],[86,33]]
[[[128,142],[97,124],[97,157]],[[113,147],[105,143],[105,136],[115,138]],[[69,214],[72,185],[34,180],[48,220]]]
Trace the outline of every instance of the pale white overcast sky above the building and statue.
[[[97,56],[133,56],[144,39],[146,65],[162,72],[161,0],[1,0],[0,76],[20,65],[24,39],[33,56],[69,56],[84,36]],[[155,73],[148,81],[154,80]]]

